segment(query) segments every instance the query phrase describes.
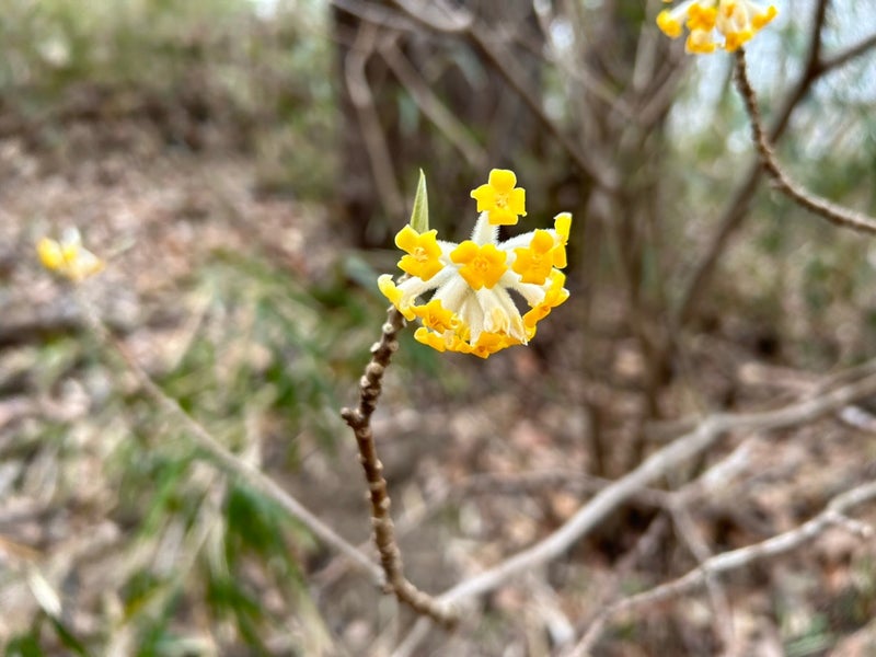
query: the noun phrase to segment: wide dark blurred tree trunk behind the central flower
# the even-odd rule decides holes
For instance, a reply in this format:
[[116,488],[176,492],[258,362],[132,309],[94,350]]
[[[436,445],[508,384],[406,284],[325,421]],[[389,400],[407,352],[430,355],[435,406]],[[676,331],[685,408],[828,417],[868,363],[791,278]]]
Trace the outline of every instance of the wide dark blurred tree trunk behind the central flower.
[[[387,0],[372,0],[368,5],[391,10]],[[535,54],[543,43],[538,22],[528,0],[468,0],[458,4],[476,16],[479,25],[495,32],[495,38],[507,44],[514,67],[522,72],[533,93],[541,88],[542,60]],[[502,16],[500,21],[496,16]],[[373,107],[379,116],[380,138],[391,158],[392,170],[376,172],[368,152],[368,135],[364,132],[360,111],[347,84],[350,51],[362,30],[374,30],[343,9],[333,9],[337,43],[337,74],[342,120],[339,203],[346,226],[360,246],[385,244],[404,217],[396,208],[387,207],[377,175],[392,176],[396,189],[412,191],[415,172],[426,171],[429,188],[441,192],[448,201],[434,204],[434,215],[442,219],[442,229],[461,223],[469,192],[486,178],[461,157],[446,136],[419,111],[412,95],[396,80],[379,51],[368,56],[365,78]],[[377,39],[391,37],[403,56],[419,73],[445,105],[466,128],[487,154],[488,166],[512,168],[521,159],[532,162],[541,149],[538,122],[520,96],[509,88],[496,68],[485,60],[465,35],[439,34],[422,30],[392,34],[391,28],[377,27]],[[526,44],[526,46],[521,45]],[[370,137],[374,137],[371,135]],[[480,168],[479,168],[480,169]],[[527,186],[531,186],[529,183]],[[472,208],[473,211],[473,208]],[[388,224],[388,220],[392,226]]]

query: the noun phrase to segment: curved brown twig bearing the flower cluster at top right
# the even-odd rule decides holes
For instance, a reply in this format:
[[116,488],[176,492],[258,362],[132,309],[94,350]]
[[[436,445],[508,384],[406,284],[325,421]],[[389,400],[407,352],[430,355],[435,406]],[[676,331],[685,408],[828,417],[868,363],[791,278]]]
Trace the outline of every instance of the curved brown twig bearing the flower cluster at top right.
[[742,48],[739,48],[736,51],[736,85],[739,89],[742,100],[745,101],[746,111],[748,112],[748,117],[751,120],[751,131],[753,134],[754,145],[757,146],[761,163],[763,164],[763,169],[773,180],[775,188],[802,207],[810,210],[819,217],[827,219],[834,226],[839,226],[840,228],[849,228],[858,232],[876,234],[876,219],[867,217],[862,212],[855,212],[854,210],[850,210],[809,193],[807,189],[792,181],[782,170],[779,161],[775,158],[773,148],[763,131],[763,126],[761,125],[760,110],[758,108],[758,101],[754,95],[754,90],[751,88],[751,82],[748,79],[746,54]]

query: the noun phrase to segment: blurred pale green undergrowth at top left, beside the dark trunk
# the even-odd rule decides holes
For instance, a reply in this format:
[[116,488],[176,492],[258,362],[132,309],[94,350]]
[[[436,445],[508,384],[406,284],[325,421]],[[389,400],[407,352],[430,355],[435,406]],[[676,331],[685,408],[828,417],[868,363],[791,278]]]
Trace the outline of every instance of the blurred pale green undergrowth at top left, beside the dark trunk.
[[[262,3],[261,5],[267,5]],[[249,0],[10,0],[0,16],[0,108],[46,128],[146,114],[215,125],[256,154],[265,192],[326,196],[334,183],[331,43],[324,7]],[[166,125],[161,125],[166,124]]]

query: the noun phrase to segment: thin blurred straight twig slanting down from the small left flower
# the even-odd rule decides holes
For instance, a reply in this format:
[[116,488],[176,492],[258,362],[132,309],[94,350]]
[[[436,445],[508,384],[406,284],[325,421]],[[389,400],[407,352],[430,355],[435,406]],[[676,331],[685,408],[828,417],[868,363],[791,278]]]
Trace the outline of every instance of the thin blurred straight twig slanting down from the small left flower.
[[226,474],[239,476],[247,486],[274,500],[280,508],[289,514],[291,518],[295,518],[307,527],[308,530],[325,543],[325,545],[343,554],[359,570],[370,575],[378,585],[383,585],[383,573],[366,554],[360,552],[355,545],[342,538],[331,527],[310,512],[300,502],[284,491],[274,480],[265,475],[261,470],[255,468],[255,465],[238,458],[214,438],[207,429],[195,422],[191,415],[183,411],[176,400],[168,396],[155,382],[152,381],[142,366],[140,366],[137,359],[128,351],[127,347],[110,333],[97,315],[96,309],[91,304],[84,293],[79,290],[76,290],[76,293],[82,308],[82,316],[91,332],[100,341],[100,344],[111,347],[122,356],[123,360],[137,378],[137,382],[143,392],[146,392],[165,413],[172,417],[178,418],[195,445],[207,452],[210,459],[212,459]]

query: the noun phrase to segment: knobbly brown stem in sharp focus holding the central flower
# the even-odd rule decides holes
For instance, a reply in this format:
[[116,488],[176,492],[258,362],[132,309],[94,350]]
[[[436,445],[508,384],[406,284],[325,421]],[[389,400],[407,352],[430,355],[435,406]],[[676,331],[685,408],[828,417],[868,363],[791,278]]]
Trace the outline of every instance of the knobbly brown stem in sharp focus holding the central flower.
[[387,574],[387,589],[399,600],[408,604],[417,613],[450,627],[457,622],[456,610],[417,589],[404,575],[402,554],[395,541],[395,529],[390,515],[390,496],[387,480],[383,479],[383,464],[377,456],[374,436],[371,431],[371,415],[382,391],[383,371],[392,355],[399,349],[399,331],[404,326],[404,318],[395,308],[390,308],[380,342],[371,347],[371,361],[365,368],[360,381],[359,405],[357,408],[343,408],[341,416],[356,436],[359,447],[359,462],[365,470],[368,494],[371,500],[371,523],[374,529],[374,543],[380,553],[380,562]]

